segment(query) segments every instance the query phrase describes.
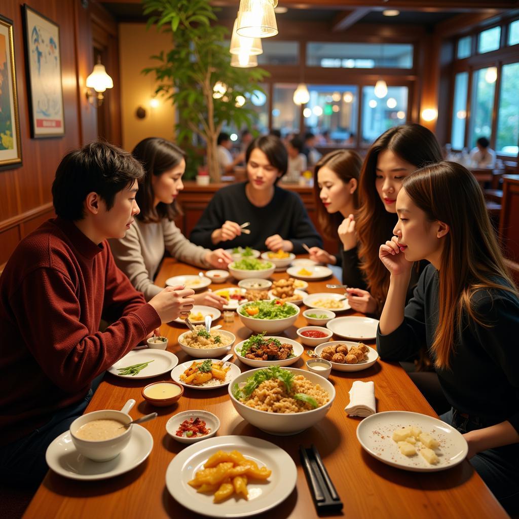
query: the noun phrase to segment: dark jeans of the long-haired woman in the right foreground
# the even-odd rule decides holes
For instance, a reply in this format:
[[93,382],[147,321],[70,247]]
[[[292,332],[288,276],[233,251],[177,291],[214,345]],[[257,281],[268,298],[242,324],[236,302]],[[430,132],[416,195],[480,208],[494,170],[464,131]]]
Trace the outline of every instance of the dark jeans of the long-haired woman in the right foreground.
[[[494,425],[477,416],[462,416],[456,409],[440,416],[462,434]],[[519,512],[519,443],[483,450],[469,460],[475,471],[509,513]]]

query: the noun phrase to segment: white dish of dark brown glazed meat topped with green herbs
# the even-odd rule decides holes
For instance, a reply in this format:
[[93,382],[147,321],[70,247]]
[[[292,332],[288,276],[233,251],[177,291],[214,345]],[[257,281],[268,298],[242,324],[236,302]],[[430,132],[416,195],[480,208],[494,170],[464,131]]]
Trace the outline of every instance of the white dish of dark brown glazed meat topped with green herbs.
[[286,337],[265,337],[265,333],[251,335],[235,346],[236,357],[252,367],[290,366],[297,362],[304,351],[303,346]]

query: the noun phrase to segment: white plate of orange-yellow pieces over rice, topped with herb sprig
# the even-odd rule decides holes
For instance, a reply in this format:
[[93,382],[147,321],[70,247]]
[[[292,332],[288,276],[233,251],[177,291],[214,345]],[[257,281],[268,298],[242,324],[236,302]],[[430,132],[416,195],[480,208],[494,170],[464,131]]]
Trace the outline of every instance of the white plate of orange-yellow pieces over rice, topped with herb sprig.
[[214,359],[184,362],[171,371],[171,378],[175,382],[192,389],[225,387],[238,375],[241,375],[241,370],[237,365]]

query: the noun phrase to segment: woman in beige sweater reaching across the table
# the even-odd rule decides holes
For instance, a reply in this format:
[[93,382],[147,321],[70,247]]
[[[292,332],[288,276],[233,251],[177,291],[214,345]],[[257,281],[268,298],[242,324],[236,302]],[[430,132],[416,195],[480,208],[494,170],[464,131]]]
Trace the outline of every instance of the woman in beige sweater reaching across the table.
[[[191,243],[173,221],[179,214],[175,198],[184,189],[182,149],[166,139],[150,137],[136,145],[132,155],[146,171],[135,195],[141,212],[124,238],[109,241],[117,266],[148,301],[162,290],[153,280],[166,250],[178,260],[202,268],[225,267],[231,257],[222,249],[211,251]],[[195,304],[216,308],[226,303],[212,292],[193,298]]]

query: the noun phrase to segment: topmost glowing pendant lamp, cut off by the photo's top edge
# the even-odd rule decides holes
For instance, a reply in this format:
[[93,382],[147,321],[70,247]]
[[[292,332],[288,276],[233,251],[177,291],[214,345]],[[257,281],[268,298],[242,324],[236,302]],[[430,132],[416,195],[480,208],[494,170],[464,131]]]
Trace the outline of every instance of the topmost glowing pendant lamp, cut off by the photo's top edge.
[[274,8],[277,0],[240,0],[236,32],[247,38],[268,38],[278,34]]

